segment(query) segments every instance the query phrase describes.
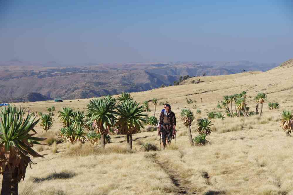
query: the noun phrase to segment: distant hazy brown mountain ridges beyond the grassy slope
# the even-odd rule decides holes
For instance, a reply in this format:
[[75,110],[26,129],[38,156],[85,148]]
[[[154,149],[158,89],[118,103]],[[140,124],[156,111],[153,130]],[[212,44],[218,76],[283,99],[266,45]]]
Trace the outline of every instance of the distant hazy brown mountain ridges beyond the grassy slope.
[[206,76],[213,76],[240,73],[243,70],[267,71],[278,65],[250,61],[211,61],[85,63],[69,66],[56,61],[38,64],[13,59],[0,62],[0,101],[92,98],[170,85],[184,75],[201,76],[205,73]]

